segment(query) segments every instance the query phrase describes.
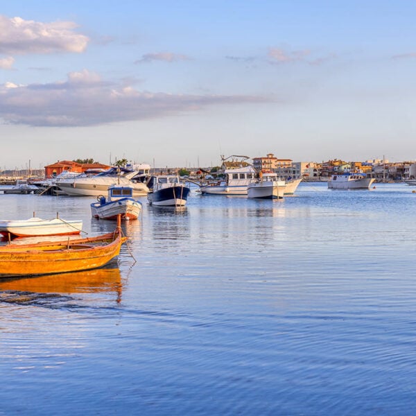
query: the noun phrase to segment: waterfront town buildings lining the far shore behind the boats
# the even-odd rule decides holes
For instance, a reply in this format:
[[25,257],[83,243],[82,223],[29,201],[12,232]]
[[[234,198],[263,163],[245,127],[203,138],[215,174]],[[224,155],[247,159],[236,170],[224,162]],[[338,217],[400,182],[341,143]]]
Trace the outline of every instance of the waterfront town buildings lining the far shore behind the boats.
[[[415,161],[389,162],[388,159],[369,159],[363,162],[347,162],[343,159],[331,159],[327,162],[293,162],[292,159],[275,157],[273,153],[268,153],[262,157],[252,157],[251,159],[252,166],[257,172],[272,171],[277,173],[277,176],[281,177],[282,180],[302,177],[305,182],[326,182],[331,175],[345,172],[361,172],[367,177],[374,178],[375,182],[400,182],[416,177]],[[121,166],[137,166],[137,164],[129,162],[127,159],[119,162],[121,162]],[[150,164],[140,164],[139,166],[146,166],[148,171],[155,173],[175,173],[190,177],[199,177],[207,173],[215,174],[221,168],[221,166],[151,168]],[[0,171],[0,183],[15,183],[16,180],[31,180],[32,178],[48,179],[60,175],[64,171],[83,173],[88,170],[99,171],[108,168],[110,168],[110,165],[94,162],[93,159],[59,160],[40,169],[31,169],[29,164],[26,168],[4,168],[3,171]]]

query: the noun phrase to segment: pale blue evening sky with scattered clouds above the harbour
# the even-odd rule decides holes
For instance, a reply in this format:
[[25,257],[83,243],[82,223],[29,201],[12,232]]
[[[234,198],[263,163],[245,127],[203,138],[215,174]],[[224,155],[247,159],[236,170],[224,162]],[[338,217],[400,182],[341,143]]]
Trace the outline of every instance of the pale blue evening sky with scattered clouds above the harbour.
[[0,0],[0,169],[416,159],[414,1]]

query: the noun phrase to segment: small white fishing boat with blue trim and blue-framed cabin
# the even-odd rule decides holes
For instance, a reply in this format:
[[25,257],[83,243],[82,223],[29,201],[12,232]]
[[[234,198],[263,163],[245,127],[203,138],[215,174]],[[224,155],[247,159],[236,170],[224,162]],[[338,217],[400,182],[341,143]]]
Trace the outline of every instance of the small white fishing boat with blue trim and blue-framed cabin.
[[141,208],[141,202],[133,198],[132,187],[113,184],[108,188],[107,198],[98,196],[97,202],[91,204],[91,214],[101,220],[115,220],[118,215],[122,220],[137,220]]

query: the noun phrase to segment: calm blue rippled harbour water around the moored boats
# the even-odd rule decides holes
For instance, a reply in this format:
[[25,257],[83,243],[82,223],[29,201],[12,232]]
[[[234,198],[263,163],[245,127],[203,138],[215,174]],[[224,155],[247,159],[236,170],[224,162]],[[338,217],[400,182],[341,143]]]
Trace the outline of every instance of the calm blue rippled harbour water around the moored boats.
[[[326,187],[145,204],[119,270],[0,282],[0,415],[413,415],[416,193]],[[113,229],[93,201],[1,217]]]

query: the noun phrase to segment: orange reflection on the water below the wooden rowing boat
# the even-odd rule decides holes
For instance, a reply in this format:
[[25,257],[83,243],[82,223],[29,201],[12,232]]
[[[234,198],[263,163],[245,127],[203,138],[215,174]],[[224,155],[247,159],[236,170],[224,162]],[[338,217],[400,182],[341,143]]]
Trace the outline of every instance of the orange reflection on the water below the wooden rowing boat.
[[17,277],[0,281],[0,291],[120,294],[121,275],[118,268],[99,268],[38,277]]

